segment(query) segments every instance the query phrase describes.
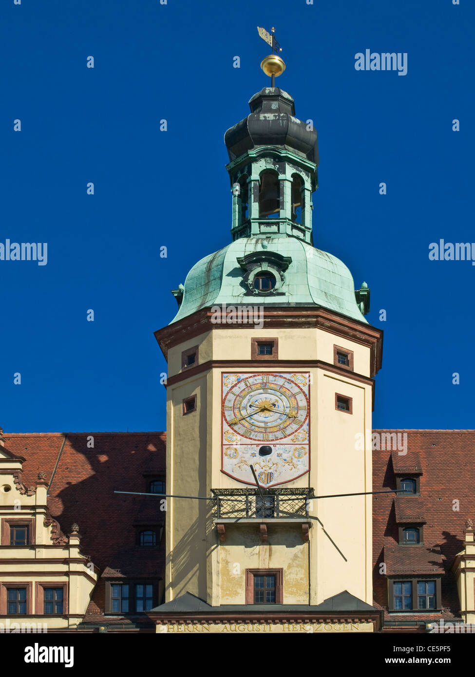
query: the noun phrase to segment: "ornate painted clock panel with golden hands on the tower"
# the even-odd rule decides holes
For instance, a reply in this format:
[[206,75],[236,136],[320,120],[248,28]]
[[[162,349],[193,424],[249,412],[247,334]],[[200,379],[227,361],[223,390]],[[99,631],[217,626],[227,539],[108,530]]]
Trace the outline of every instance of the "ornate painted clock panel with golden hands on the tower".
[[222,374],[222,472],[264,487],[310,469],[310,374]]

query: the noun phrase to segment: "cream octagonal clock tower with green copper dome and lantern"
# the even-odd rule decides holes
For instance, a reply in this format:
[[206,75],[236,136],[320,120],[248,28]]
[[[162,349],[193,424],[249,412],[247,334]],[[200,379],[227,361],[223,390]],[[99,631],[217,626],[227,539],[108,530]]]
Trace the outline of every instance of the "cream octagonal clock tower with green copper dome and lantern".
[[367,285],[313,244],[316,131],[278,87],[249,106],[224,136],[231,242],[192,267],[155,332],[169,497],[165,603],[150,616],[157,632],[372,631],[382,332]]

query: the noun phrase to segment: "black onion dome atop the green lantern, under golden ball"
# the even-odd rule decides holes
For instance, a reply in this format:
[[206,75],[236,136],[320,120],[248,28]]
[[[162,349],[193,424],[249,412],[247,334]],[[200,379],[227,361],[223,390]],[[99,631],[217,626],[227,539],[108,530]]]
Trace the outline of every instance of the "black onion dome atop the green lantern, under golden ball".
[[228,129],[224,143],[230,160],[255,146],[283,146],[297,151],[318,167],[315,130],[295,117],[293,98],[278,87],[264,87],[249,100],[251,114]]

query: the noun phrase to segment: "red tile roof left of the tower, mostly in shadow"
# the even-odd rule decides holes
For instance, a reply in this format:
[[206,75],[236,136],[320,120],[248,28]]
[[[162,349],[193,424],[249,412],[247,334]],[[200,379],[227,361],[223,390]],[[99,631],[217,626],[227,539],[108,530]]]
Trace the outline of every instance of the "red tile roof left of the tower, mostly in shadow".
[[[163,577],[164,544],[137,547],[133,527],[136,518],[141,525],[163,523],[161,499],[144,504],[143,496],[114,492],[146,492],[144,473],[165,473],[165,433],[5,434],[5,447],[26,459],[26,486],[36,485],[39,471],[46,473],[51,515],[64,533],[77,522],[81,552],[101,571],[113,567],[125,576]],[[101,588],[96,586],[89,605],[97,613],[104,609]]]

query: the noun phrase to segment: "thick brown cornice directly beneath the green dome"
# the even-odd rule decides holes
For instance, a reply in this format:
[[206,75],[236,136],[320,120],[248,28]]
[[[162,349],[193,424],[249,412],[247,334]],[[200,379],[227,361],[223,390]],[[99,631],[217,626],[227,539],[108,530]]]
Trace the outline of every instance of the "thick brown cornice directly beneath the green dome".
[[[345,315],[340,315],[322,307],[292,307],[292,308],[266,308],[264,307],[264,328],[319,328],[330,332],[335,336],[354,341],[360,345],[369,347],[371,351],[371,376],[377,374],[381,368],[383,331],[371,324],[352,320]],[[213,329],[229,329],[226,317],[222,315],[222,322],[211,322],[216,313],[211,313],[210,308],[203,308],[188,315],[179,322],[173,322],[163,329],[154,332],[154,336],[161,347],[165,359],[169,349],[189,341],[194,336],[205,334]],[[233,329],[249,329],[254,324],[233,324]]]

